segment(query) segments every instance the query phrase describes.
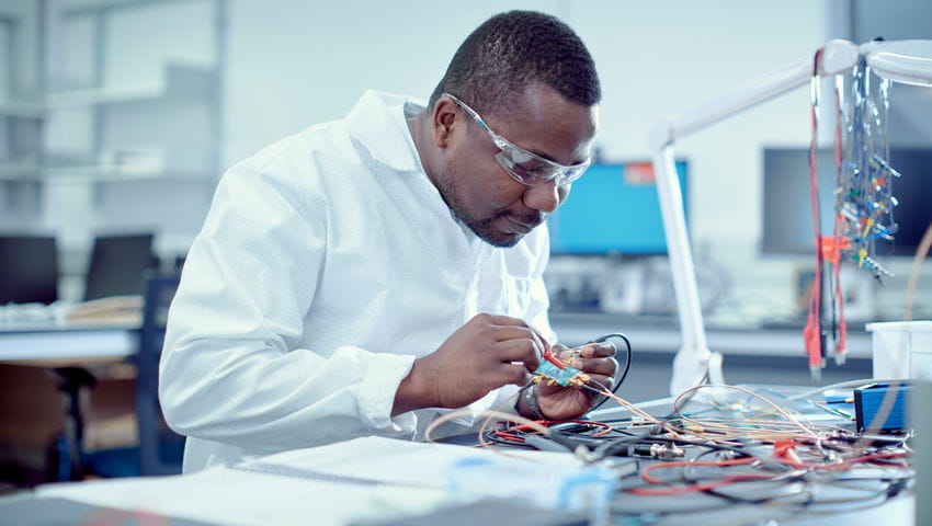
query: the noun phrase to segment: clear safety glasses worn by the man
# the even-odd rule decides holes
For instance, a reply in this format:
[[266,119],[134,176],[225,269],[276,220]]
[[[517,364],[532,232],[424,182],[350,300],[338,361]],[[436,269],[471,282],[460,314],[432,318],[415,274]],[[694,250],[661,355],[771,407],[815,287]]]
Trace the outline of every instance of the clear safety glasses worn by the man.
[[589,168],[589,160],[571,167],[558,164],[549,159],[527,151],[524,148],[514,146],[508,139],[492,132],[489,126],[482,121],[482,117],[465,102],[451,95],[443,93],[441,96],[448,96],[459,105],[466,113],[476,119],[476,124],[485,129],[492,141],[496,144],[500,152],[496,155],[496,161],[508,172],[515,181],[527,186],[539,186],[550,181],[556,181],[557,186],[569,186],[573,181],[579,179],[586,169]]

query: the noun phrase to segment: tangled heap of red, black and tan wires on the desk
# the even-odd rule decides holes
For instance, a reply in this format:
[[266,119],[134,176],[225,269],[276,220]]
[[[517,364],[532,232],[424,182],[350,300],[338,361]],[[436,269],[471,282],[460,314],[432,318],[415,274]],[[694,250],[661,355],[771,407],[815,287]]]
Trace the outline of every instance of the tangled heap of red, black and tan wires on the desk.
[[[704,388],[732,390],[747,399],[685,413],[685,402]],[[740,387],[697,386],[678,397],[673,411],[661,419],[644,413],[607,389],[602,395],[634,410],[635,416],[611,423],[536,423],[547,427],[547,441],[562,445],[588,462],[627,457],[640,464],[639,478],[622,480],[616,516],[633,515],[645,521],[643,514],[648,511],[657,514],[653,518],[686,511],[714,511],[720,501],[765,505],[771,514],[850,511],[885,502],[906,488],[912,476],[906,464],[911,451],[905,436],[865,447],[856,433],[807,422],[804,413]],[[707,415],[709,412],[715,414]],[[728,413],[735,416],[723,416]],[[487,443],[530,448],[531,444],[539,447],[538,438],[543,436],[526,424],[499,421],[485,432],[484,438]],[[826,496],[829,488],[831,498]],[[715,504],[684,511],[669,508],[669,500],[656,501],[681,494],[711,498]]]

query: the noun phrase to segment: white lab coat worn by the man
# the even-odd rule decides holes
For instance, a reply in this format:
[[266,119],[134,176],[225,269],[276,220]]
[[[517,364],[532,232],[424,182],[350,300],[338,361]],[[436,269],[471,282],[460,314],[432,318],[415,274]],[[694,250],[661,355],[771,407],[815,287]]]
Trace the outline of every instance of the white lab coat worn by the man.
[[406,112],[421,107],[367,92],[346,118],[219,182],[161,359],[166,419],[189,437],[185,472],[362,435],[419,437],[437,410],[393,419],[395,391],[416,357],[477,313],[522,318],[554,342],[546,227],[510,249],[465,229],[408,130]]

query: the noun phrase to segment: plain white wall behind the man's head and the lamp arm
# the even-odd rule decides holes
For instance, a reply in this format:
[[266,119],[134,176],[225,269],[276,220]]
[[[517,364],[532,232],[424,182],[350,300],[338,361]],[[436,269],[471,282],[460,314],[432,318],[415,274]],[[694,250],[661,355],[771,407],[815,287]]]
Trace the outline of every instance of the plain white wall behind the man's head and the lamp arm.
[[[832,33],[844,3],[471,1],[452,9],[428,0],[232,0],[223,159],[230,164],[286,134],[340,117],[367,88],[427,98],[466,34],[493,13],[527,8],[562,18],[589,46],[604,93],[596,146],[605,158],[646,159],[647,133],[661,116],[846,36]],[[808,137],[808,91],[800,89],[678,147],[691,163],[694,244],[727,264],[740,294],[791,301],[793,263],[757,256],[761,148],[805,146]],[[758,284],[768,286],[757,290]]]

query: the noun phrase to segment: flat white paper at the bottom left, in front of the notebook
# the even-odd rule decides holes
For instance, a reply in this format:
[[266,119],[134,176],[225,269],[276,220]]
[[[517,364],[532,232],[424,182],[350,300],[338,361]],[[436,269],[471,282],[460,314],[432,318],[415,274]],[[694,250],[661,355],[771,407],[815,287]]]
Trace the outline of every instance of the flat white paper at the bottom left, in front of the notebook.
[[231,526],[346,525],[422,515],[451,501],[450,494],[440,490],[361,487],[225,468],[164,478],[53,484],[39,487],[35,493]]

